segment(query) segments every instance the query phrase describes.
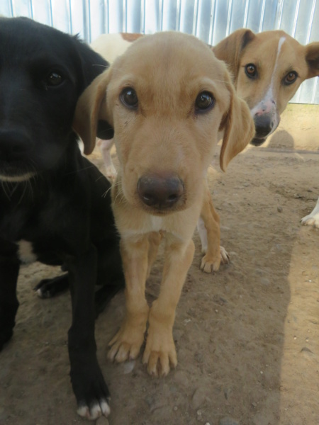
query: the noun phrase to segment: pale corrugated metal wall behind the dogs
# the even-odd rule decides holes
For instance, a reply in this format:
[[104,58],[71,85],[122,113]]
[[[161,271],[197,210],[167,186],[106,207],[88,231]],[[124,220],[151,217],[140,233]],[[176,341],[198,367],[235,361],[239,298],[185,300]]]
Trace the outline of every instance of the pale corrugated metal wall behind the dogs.
[[[88,42],[101,33],[179,30],[211,45],[237,28],[281,29],[303,45],[319,40],[319,0],[0,0],[0,14],[28,16]],[[296,103],[319,103],[318,77]]]

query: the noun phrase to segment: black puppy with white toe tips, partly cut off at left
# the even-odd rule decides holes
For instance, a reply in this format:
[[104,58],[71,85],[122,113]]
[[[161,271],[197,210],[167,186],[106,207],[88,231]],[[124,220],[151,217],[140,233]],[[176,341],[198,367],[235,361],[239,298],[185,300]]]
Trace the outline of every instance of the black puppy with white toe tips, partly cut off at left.
[[82,157],[72,118],[108,65],[84,42],[28,18],[0,19],[0,350],[13,334],[21,261],[62,265],[69,283],[70,375],[78,413],[107,415],[96,359],[94,285],[123,285],[110,185]]

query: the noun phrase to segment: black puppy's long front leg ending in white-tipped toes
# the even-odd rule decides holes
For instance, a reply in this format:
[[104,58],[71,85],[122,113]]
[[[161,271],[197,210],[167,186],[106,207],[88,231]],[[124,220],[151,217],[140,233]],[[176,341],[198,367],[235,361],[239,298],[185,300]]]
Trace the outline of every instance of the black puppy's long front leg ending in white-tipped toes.
[[66,262],[72,299],[72,326],[69,329],[70,377],[77,398],[77,412],[87,419],[108,416],[110,394],[96,358],[94,338],[94,285],[96,248],[91,245]]

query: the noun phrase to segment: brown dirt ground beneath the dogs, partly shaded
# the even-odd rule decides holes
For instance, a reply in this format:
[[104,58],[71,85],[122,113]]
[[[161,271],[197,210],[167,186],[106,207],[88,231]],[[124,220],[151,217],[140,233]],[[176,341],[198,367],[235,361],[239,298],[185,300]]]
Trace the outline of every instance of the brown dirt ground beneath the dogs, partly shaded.
[[[202,273],[196,254],[177,308],[179,363],[147,375],[139,357],[106,360],[123,317],[118,293],[96,322],[111,415],[96,425],[319,424],[319,229],[300,219],[319,195],[319,106],[289,105],[264,147],[248,147],[226,174],[209,172],[228,266]],[[103,170],[99,152],[93,161]],[[147,297],[159,290],[159,256]],[[0,424],[71,425],[69,294],[40,300],[33,286],[57,269],[23,266],[13,339],[0,353]]]

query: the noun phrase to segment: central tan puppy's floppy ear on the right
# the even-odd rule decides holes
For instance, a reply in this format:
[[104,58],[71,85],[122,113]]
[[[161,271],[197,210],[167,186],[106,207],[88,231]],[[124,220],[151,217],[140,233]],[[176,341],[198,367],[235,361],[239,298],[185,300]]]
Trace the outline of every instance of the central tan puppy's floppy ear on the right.
[[220,130],[224,130],[220,149],[220,168],[225,171],[228,163],[239,154],[254,137],[254,120],[247,103],[237,96],[233,84],[228,83],[230,107],[224,115]]

